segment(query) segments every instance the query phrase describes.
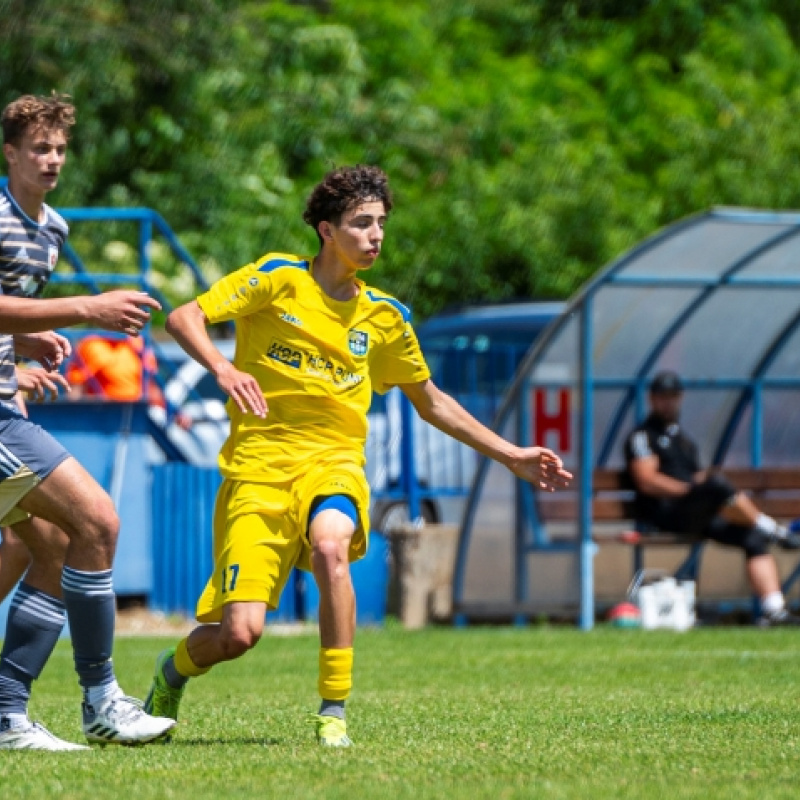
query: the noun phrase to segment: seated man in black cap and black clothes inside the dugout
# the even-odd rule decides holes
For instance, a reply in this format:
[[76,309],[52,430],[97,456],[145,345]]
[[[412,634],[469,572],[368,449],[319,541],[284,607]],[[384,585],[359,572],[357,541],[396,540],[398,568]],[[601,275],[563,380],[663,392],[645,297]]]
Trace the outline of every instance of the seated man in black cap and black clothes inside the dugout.
[[697,445],[678,424],[682,399],[678,375],[656,375],[650,384],[650,415],[625,442],[637,521],[741,548],[753,591],[761,599],[761,623],[800,624],[800,617],[786,609],[778,567],[768,550],[770,544],[798,549],[800,537],[762,513],[722,475],[701,469]]

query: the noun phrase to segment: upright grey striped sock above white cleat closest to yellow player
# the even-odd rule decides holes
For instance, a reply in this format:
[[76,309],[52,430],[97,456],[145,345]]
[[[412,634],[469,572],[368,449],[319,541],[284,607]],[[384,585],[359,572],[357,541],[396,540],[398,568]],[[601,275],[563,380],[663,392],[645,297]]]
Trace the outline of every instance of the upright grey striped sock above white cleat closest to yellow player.
[[81,686],[90,689],[112,683],[111,651],[117,603],[111,570],[84,572],[64,567],[61,588]]

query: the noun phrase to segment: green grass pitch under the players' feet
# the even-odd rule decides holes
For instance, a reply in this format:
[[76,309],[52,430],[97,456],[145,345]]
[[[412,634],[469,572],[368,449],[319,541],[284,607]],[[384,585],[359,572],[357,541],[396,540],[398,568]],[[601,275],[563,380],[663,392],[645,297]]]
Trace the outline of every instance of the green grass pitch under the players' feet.
[[[121,638],[143,696],[165,640]],[[3,753],[9,798],[794,798],[800,632],[360,631],[356,746],[316,746],[317,640],[266,636],[187,690],[170,745]],[[32,716],[80,741],[62,642]]]

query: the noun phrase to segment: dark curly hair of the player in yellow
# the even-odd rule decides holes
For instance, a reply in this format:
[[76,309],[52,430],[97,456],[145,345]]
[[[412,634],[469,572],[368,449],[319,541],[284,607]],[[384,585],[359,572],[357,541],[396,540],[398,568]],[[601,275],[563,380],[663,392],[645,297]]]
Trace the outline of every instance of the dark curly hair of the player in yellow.
[[303,219],[319,236],[320,222],[332,222],[338,225],[345,212],[360,203],[372,200],[382,202],[387,214],[392,210],[389,179],[382,169],[363,164],[357,164],[355,167],[338,167],[314,187],[306,202]]

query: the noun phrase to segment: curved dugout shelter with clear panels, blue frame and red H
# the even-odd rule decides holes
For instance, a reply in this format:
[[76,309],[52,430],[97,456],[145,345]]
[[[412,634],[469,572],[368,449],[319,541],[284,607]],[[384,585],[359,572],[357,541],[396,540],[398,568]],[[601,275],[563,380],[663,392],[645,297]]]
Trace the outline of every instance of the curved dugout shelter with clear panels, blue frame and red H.
[[[595,618],[592,471],[621,467],[662,369],[704,465],[800,463],[800,214],[714,209],[651,236],[585,285],[533,345],[495,420],[575,475],[535,492],[484,459],[461,525],[457,623],[552,610]],[[548,519],[572,500],[573,519]]]

